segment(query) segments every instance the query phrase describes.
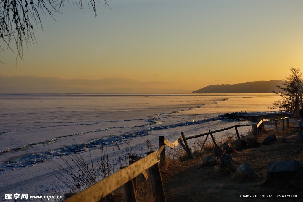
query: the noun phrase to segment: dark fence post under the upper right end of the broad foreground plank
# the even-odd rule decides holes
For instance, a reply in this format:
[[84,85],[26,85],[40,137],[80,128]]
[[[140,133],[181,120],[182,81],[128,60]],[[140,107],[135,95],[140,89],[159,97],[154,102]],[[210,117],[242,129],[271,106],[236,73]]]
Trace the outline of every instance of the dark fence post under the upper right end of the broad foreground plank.
[[[151,154],[154,151],[146,153]],[[152,193],[155,197],[156,202],[165,202],[165,193],[164,193],[164,188],[162,184],[162,177],[161,177],[161,172],[160,172],[160,167],[159,164],[155,164],[148,168],[148,178],[149,178],[149,183],[151,186]]]

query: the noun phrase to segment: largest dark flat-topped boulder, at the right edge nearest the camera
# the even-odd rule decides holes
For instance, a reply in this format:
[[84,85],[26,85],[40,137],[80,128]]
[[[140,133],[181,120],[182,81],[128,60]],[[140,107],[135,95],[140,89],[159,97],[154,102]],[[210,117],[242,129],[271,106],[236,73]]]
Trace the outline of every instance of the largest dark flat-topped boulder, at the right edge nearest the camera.
[[268,162],[266,182],[274,179],[291,180],[295,176],[303,176],[303,163],[294,159]]

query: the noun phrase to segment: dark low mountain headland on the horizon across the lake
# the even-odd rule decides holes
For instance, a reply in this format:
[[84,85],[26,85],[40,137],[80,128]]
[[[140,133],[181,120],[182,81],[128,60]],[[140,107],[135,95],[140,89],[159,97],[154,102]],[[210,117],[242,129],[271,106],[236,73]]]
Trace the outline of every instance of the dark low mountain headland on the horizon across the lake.
[[201,88],[193,93],[271,93],[278,91],[276,85],[281,86],[284,81],[251,81],[241,84],[217,84]]

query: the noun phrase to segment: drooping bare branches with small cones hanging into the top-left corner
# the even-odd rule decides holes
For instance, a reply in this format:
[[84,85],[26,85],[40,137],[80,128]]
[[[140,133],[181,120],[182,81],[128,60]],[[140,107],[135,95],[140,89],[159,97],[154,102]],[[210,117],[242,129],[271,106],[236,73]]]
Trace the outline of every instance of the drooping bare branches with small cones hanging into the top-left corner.
[[[111,0],[101,0],[105,6]],[[82,0],[0,0],[0,48],[16,51],[17,57],[23,58],[23,45],[36,42],[35,29],[42,27],[41,15],[50,15],[64,6],[64,3],[72,2],[78,8],[83,9]],[[95,3],[98,0],[85,0],[89,7],[96,13]],[[109,7],[110,8],[110,7]],[[16,47],[16,50],[15,48]],[[14,51],[15,50],[15,51]]]

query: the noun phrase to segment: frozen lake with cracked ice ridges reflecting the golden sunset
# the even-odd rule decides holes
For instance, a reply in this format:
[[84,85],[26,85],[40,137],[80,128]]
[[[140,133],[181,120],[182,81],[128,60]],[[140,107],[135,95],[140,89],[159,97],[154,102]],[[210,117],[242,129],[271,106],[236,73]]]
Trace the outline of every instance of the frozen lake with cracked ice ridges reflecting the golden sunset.
[[[46,195],[56,188],[68,191],[52,169],[65,165],[62,158],[69,159],[65,146],[75,142],[83,145],[83,156],[88,157],[90,150],[95,159],[100,156],[98,146],[105,144],[113,157],[117,142],[121,152],[130,145],[134,155],[144,155],[146,140],[157,145],[161,135],[175,141],[181,132],[191,136],[245,124],[219,115],[272,111],[268,107],[278,99],[273,93],[0,94],[0,197]],[[185,124],[193,120],[195,124]],[[246,133],[248,128],[240,130]],[[123,166],[120,160],[115,166]]]

